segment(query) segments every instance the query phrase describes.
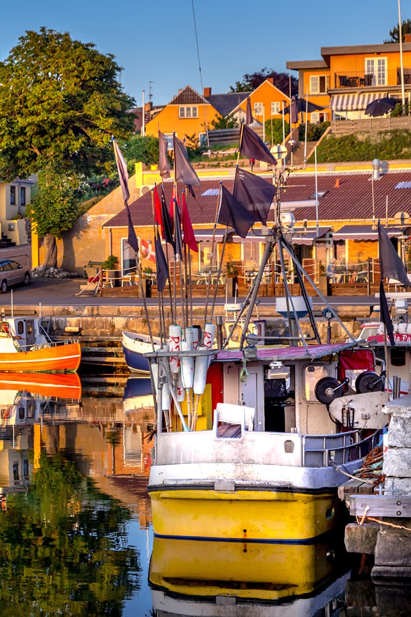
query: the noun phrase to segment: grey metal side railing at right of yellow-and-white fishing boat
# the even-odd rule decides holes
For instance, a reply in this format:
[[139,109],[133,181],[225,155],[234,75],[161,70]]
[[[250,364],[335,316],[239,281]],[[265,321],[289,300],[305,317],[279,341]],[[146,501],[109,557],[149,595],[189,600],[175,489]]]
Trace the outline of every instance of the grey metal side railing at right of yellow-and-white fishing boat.
[[345,465],[364,457],[380,440],[380,431],[362,438],[359,431],[328,435],[304,435],[303,466],[327,467],[332,463]]

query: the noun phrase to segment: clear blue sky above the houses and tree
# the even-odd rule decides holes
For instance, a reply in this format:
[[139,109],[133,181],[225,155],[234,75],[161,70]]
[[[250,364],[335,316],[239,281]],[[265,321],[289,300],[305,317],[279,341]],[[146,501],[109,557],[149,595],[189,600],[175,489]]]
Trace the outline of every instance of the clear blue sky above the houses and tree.
[[[383,43],[398,23],[397,0],[194,0],[194,8],[203,86],[213,94],[263,67],[286,72],[287,60],[320,59],[322,46]],[[137,105],[150,81],[155,105],[187,84],[201,91],[192,0],[21,0],[3,3],[1,16],[2,60],[26,30],[44,26],[112,53]],[[401,17],[411,19],[411,0],[401,0]]]

